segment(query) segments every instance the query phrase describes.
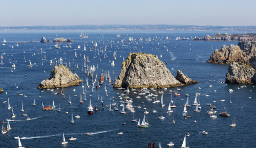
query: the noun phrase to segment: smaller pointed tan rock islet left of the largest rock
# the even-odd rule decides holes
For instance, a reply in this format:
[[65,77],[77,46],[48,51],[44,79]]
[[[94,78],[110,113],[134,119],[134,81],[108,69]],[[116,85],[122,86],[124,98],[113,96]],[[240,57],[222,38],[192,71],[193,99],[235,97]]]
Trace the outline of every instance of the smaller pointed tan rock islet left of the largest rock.
[[57,65],[52,70],[51,75],[48,79],[42,81],[37,88],[60,88],[79,85],[82,80],[71,70],[63,65]]

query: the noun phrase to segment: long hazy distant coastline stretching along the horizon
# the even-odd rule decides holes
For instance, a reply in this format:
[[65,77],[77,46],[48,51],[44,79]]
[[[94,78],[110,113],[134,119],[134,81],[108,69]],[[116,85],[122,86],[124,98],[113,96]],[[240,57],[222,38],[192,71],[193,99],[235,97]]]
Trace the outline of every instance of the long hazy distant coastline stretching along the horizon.
[[194,26],[194,25],[69,25],[0,27],[0,30],[147,30],[147,31],[244,31],[254,32],[256,26]]

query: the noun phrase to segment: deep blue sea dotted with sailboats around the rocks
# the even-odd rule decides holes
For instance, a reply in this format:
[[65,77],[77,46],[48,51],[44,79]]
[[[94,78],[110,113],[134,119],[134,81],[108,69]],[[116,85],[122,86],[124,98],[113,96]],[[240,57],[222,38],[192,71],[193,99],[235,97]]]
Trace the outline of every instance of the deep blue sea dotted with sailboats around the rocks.
[[[255,147],[255,84],[225,83],[228,64],[205,62],[215,50],[219,50],[223,45],[237,45],[237,41],[192,40],[195,36],[203,37],[206,34],[212,36],[219,33],[214,31],[86,30],[82,33],[88,34],[89,38],[79,38],[81,31],[76,30],[0,31],[0,41],[3,42],[4,39],[7,41],[5,45],[0,44],[0,54],[4,58],[4,64],[0,66],[0,87],[4,90],[3,93],[0,93],[0,121],[5,122],[5,129],[7,129],[7,119],[10,119],[9,124],[12,128],[6,134],[0,134],[0,147],[18,147],[18,140],[14,137],[20,137],[20,142],[26,148],[147,147],[147,143],[150,141],[155,143],[156,147],[159,147],[160,141],[161,147],[169,147],[167,146],[169,142],[175,144],[172,147],[181,147],[187,133],[190,134],[189,137],[186,137],[188,147]],[[117,38],[118,34],[120,34],[120,38]],[[167,36],[168,40],[166,40]],[[50,41],[57,37],[71,38],[74,43],[71,44],[71,48],[65,47],[66,44],[69,46],[69,43],[59,43],[60,49],[56,50],[54,46],[56,43],[39,43],[41,37],[46,37]],[[130,37],[136,41],[130,42]],[[141,37],[143,40],[140,40]],[[154,38],[154,41],[145,41],[145,38],[148,39],[149,37]],[[176,40],[177,37],[180,37],[181,40]],[[189,39],[182,40],[183,37]],[[33,42],[28,42],[31,40]],[[93,47],[95,41],[98,45],[96,51]],[[78,45],[81,46],[80,49],[77,48]],[[106,51],[103,50],[105,45]],[[84,46],[86,46],[86,51],[83,51]],[[92,51],[90,51],[90,47]],[[103,53],[99,52],[100,47]],[[77,57],[75,57],[75,52]],[[113,58],[114,52],[117,55],[116,60]],[[126,61],[126,57],[130,53],[140,52],[157,55],[160,61],[166,63],[166,67],[174,77],[177,75],[177,70],[181,70],[186,76],[199,83],[180,87],[183,89],[183,91],[178,91],[181,93],[180,96],[174,96],[173,92],[170,92],[170,90],[177,91],[177,88],[163,90],[164,107],[161,106],[161,103],[153,104],[154,99],[146,101],[146,95],[140,95],[141,98],[136,98],[138,94],[134,92],[140,89],[131,91],[130,88],[129,93],[124,93],[133,99],[132,105],[135,112],[132,113],[127,110],[126,114],[121,114],[122,107],[119,101],[124,101],[124,98],[122,100],[119,98],[112,99],[113,96],[119,95],[117,93],[122,92],[113,88],[113,84],[115,78],[119,76],[123,59]],[[96,83],[92,92],[92,79],[87,77],[85,69],[82,68],[84,55],[88,56],[90,60],[90,63],[86,64],[96,67],[94,77],[97,74],[99,80],[101,73],[104,75],[106,72],[109,73],[108,76],[111,77],[112,81],[105,80],[98,89],[96,89]],[[162,57],[160,58],[160,56]],[[62,58],[63,64],[66,65],[67,63],[67,67],[83,80],[79,86],[63,88],[65,99],[61,94],[61,88],[54,89],[58,92],[57,94],[53,94],[47,89],[37,89],[40,82],[49,78],[51,71],[58,65],[56,62],[50,65],[50,60],[56,59],[58,61],[59,58]],[[111,65],[112,61],[115,63],[114,66]],[[30,62],[32,67],[30,67]],[[13,64],[16,66],[15,69],[11,68]],[[74,65],[75,71],[73,70]],[[82,85],[86,85],[87,78],[90,87],[82,88]],[[104,90],[105,86],[108,96]],[[199,87],[201,89],[198,89]],[[83,89],[87,90],[85,94],[82,94]],[[229,89],[233,89],[233,92],[228,92]],[[157,89],[156,91],[162,90]],[[18,95],[17,92],[25,94],[27,97]],[[155,93],[152,90],[150,92]],[[187,100],[185,95],[190,95],[188,97],[189,104],[193,104],[196,92],[200,93],[201,112],[194,112],[196,106],[187,107],[187,115],[191,117],[184,119],[183,104]],[[82,100],[87,98],[87,101],[83,100],[83,104],[80,104],[81,94]],[[68,103],[69,95],[71,104]],[[98,96],[100,100],[97,100]],[[101,97],[104,109],[102,109]],[[158,93],[157,98],[160,100],[161,94]],[[225,102],[221,102],[222,98]],[[8,103],[3,103],[4,101],[8,102],[8,99],[11,109],[8,109]],[[172,99],[177,108],[172,108],[173,113],[166,113],[168,104]],[[94,111],[92,114],[87,113],[90,100],[93,107],[95,108],[97,104],[98,108],[98,111]],[[36,106],[32,105],[34,101]],[[53,101],[56,109],[42,110],[42,103],[45,106],[52,106]],[[109,105],[113,102],[118,104],[119,111],[113,109],[117,105],[113,105],[113,111],[109,111]],[[24,112],[21,111],[22,104],[24,104]],[[210,109],[208,104],[216,106],[214,110],[217,111],[215,113],[217,118],[210,118],[210,115],[207,114]],[[141,106],[141,108],[137,108],[137,106]],[[58,112],[58,108],[61,112]],[[16,115],[15,118],[12,118],[12,110]],[[157,112],[153,113],[153,110]],[[144,114],[145,111],[149,113]],[[219,113],[221,112],[227,112],[230,116],[220,116]],[[71,123],[72,113],[74,124]],[[23,114],[28,114],[28,116]],[[80,118],[75,118],[77,115]],[[134,117],[137,120],[142,120],[144,115],[150,127],[138,128],[137,122],[132,122],[132,119]],[[160,116],[165,118],[159,119]],[[27,117],[31,120],[26,120]],[[236,127],[230,127],[234,119],[236,120]],[[173,124],[173,120],[175,120],[175,124]],[[208,134],[202,134],[203,131],[208,132]],[[123,134],[119,135],[119,132]],[[86,135],[86,133],[92,133],[92,135]],[[63,134],[68,141],[67,144],[61,144]],[[71,137],[77,139],[71,141],[69,140]]]

